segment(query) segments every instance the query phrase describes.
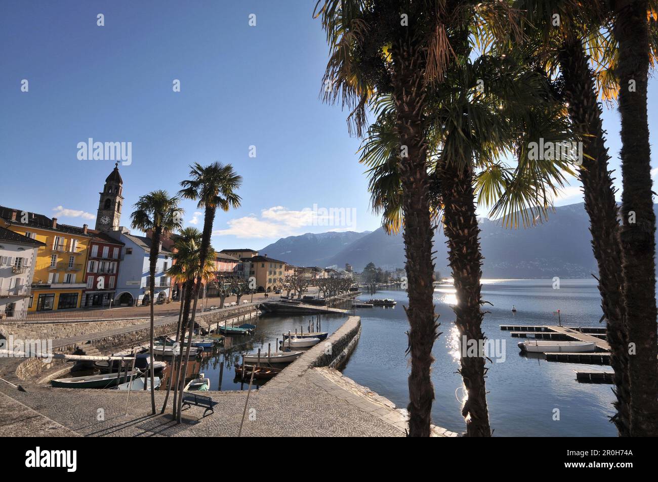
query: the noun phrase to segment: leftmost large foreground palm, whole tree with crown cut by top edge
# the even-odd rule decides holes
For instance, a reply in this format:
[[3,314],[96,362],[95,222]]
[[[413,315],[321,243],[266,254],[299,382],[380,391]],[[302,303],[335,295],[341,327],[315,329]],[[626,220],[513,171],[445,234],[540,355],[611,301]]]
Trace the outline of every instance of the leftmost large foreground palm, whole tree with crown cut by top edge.
[[[318,10],[318,6],[322,7]],[[350,132],[362,136],[366,110],[389,95],[395,168],[407,262],[411,329],[409,435],[430,435],[434,389],[432,346],[438,337],[432,301],[432,218],[426,138],[428,88],[444,83],[454,57],[453,42],[465,36],[472,11],[509,18],[504,2],[320,0],[318,16],[327,33],[330,60],[324,74],[324,100],[351,108]]]

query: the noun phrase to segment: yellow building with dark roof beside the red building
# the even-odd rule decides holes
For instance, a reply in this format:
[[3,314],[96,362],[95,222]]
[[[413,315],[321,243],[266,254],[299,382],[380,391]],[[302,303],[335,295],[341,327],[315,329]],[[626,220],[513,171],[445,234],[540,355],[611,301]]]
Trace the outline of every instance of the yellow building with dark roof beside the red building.
[[57,218],[0,206],[0,226],[45,243],[36,257],[28,311],[79,308],[93,237],[87,225],[57,224]]

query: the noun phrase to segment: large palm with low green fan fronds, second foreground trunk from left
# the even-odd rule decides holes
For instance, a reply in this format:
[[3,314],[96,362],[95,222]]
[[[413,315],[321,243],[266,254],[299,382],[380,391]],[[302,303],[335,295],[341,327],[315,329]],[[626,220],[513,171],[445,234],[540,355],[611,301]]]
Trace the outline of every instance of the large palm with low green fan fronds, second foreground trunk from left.
[[[528,226],[545,216],[551,195],[570,172],[569,160],[536,160],[528,155],[528,143],[569,139],[568,124],[561,106],[551,98],[550,85],[511,53],[483,55],[468,60],[464,47],[461,64],[446,73],[445,84],[431,92],[432,115],[427,138],[430,152],[430,209],[440,220],[448,239],[448,254],[457,292],[455,324],[469,341],[484,340],[480,324],[484,303],[480,295],[482,254],[478,240],[474,196],[510,227],[519,222]],[[484,90],[478,90],[484,80]],[[391,110],[380,101],[377,122],[361,149],[361,162],[370,177],[371,203],[383,214],[384,228],[397,231],[403,220],[399,172],[395,157]],[[499,159],[518,157],[515,168]],[[478,172],[478,174],[475,174]],[[461,343],[460,343],[461,345]],[[461,357],[467,400],[463,416],[467,435],[488,436],[490,426],[486,404],[484,356]]]

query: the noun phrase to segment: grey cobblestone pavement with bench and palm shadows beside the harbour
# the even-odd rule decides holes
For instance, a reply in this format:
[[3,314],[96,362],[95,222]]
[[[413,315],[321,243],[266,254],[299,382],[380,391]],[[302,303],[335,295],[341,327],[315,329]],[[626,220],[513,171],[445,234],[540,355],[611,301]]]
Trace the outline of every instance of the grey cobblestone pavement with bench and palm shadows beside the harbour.
[[[359,324],[358,317],[350,317],[327,343]],[[247,391],[204,393],[217,403],[215,413],[204,418],[203,408],[193,406],[183,412],[185,423],[180,425],[168,414],[151,416],[151,397],[145,391],[132,392],[127,403],[125,391],[26,384],[27,391],[22,392],[0,381],[0,411],[5,406],[11,409],[10,416],[0,418],[0,436],[32,431],[40,435],[47,431],[60,436],[235,437],[246,404],[243,437],[403,437],[407,427],[405,411],[397,410],[390,400],[336,370],[313,368],[316,353],[322,349],[318,345],[307,351],[265,387],[252,390],[248,404]],[[156,391],[158,412],[163,400],[164,391]],[[171,403],[172,397],[169,406]],[[14,420],[22,422],[5,423]],[[457,436],[438,427],[433,433],[438,437]]]

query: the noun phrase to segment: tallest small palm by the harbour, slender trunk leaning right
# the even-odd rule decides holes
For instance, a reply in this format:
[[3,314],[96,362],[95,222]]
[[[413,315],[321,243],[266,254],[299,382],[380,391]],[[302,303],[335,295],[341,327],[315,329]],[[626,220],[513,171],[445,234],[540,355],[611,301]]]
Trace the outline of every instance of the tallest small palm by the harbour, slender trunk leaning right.
[[[210,249],[210,238],[213,234],[213,222],[217,208],[228,211],[230,208],[240,207],[240,196],[236,193],[242,183],[242,176],[238,176],[233,170],[231,164],[220,164],[214,162],[209,166],[201,166],[195,162],[190,166],[190,180],[184,180],[180,183],[183,187],[178,194],[186,199],[198,201],[197,207],[204,210],[203,234],[201,235],[201,247],[199,251],[199,266],[204,266]],[[215,256],[213,256],[213,261]],[[188,343],[186,344],[185,359],[186,364],[183,369],[181,378],[182,383],[185,381],[187,360],[190,358],[190,346],[192,339],[192,330],[194,327],[194,318],[197,312],[197,301],[201,292],[201,276],[197,276],[197,281],[193,289],[194,304],[192,316],[188,324]],[[182,397],[178,398],[178,422],[180,422],[180,410],[182,408]]]

